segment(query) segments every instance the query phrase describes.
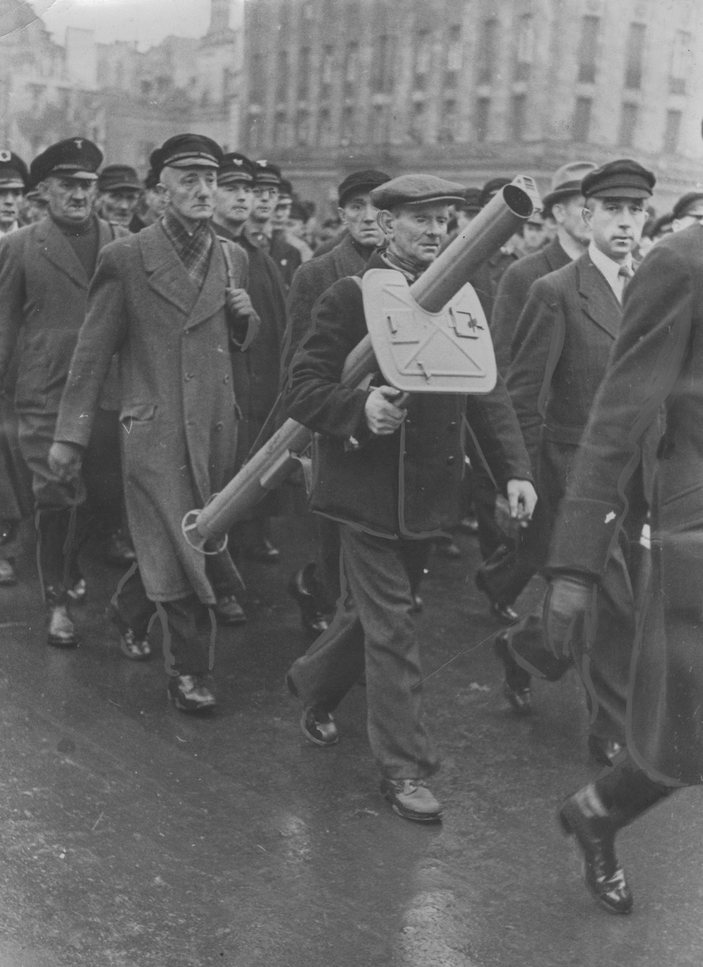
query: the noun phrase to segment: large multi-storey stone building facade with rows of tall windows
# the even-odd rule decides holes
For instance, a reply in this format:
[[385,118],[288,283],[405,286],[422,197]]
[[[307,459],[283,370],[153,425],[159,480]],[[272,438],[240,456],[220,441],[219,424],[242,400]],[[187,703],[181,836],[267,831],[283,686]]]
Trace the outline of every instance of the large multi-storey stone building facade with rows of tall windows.
[[698,0],[249,0],[242,149],[318,202],[361,166],[468,185],[573,159],[703,179]]

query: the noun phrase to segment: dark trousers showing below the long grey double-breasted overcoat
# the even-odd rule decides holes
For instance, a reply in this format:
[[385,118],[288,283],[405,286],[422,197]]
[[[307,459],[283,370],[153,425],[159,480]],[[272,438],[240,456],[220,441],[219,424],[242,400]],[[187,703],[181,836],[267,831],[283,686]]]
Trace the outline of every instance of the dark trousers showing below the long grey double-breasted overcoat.
[[126,572],[112,598],[116,623],[132,628],[138,638],[158,616],[163,633],[163,659],[169,675],[205,675],[215,658],[215,612],[190,595],[178,601],[150,601],[136,564]]

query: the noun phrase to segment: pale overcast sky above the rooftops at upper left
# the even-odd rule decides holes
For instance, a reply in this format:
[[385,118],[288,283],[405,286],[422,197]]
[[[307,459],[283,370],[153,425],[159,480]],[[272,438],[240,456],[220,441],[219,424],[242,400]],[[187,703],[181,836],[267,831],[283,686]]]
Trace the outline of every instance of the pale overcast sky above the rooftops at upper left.
[[168,34],[202,37],[210,19],[209,0],[29,0],[54,40],[66,27],[95,31],[96,40],[159,44]]

